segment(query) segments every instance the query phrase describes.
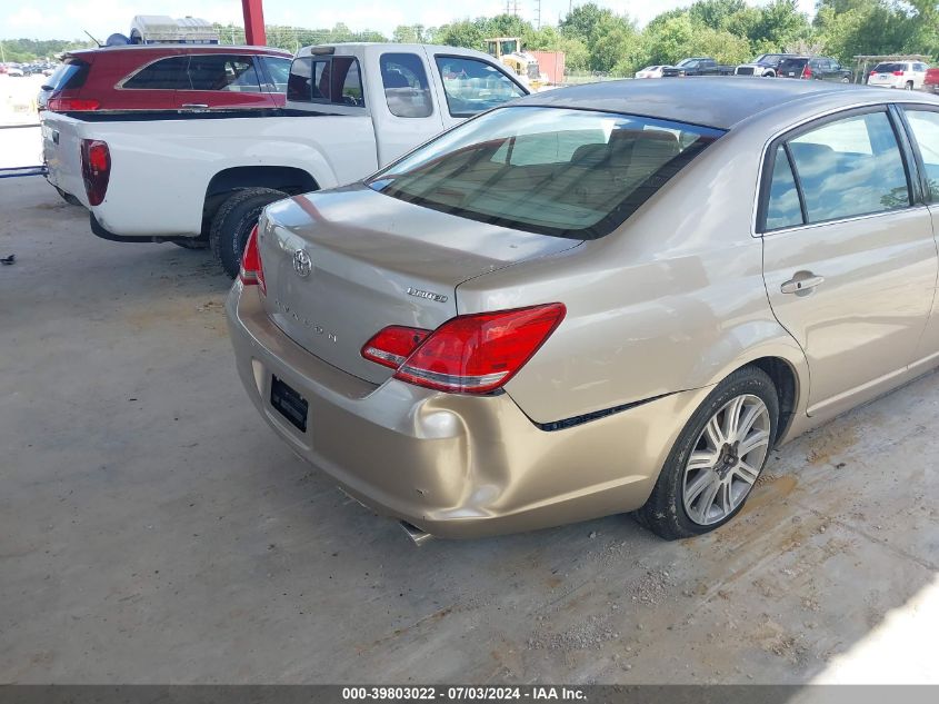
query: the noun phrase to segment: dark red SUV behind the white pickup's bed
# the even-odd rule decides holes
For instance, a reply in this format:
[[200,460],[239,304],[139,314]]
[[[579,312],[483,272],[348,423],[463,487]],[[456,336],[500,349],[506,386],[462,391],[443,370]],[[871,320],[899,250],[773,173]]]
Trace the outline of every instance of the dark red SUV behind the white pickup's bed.
[[39,96],[56,112],[213,110],[286,103],[292,56],[264,47],[150,44],[66,53]]

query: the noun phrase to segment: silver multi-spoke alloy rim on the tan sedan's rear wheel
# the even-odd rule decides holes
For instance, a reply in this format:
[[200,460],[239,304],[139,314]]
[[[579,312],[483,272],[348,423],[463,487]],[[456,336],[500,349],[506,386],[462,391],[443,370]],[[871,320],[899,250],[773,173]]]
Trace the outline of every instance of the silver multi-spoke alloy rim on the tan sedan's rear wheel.
[[751,394],[736,396],[710,417],[681,482],[685,512],[693,523],[720,523],[743,503],[769,453],[770,430],[769,409]]

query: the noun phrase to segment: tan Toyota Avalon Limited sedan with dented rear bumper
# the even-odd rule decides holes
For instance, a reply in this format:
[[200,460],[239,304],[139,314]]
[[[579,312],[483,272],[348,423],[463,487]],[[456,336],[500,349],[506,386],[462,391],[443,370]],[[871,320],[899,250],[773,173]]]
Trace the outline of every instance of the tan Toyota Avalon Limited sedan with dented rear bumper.
[[412,536],[635,509],[706,533],[775,447],[939,364],[936,108],[701,78],[491,110],[264,210],[239,376]]

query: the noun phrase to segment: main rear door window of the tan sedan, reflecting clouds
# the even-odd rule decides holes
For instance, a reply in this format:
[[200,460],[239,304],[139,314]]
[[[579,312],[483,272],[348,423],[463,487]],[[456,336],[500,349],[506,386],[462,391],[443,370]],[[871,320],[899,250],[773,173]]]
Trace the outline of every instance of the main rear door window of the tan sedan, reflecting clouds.
[[906,167],[887,112],[828,122],[789,141],[809,222],[910,205]]

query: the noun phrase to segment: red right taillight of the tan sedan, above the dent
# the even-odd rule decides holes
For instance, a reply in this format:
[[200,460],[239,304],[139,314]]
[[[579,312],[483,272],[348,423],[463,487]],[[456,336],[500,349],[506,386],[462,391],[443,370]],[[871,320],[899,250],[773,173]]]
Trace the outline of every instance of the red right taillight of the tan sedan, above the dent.
[[[426,337],[407,354],[394,378],[441,391],[486,394],[496,390],[531,359],[566,313],[563,304],[548,304],[458,316],[429,335],[416,328],[397,328]],[[362,348],[363,357],[397,366],[393,364],[397,358],[404,357],[408,351],[404,344],[408,340],[402,333],[394,333],[387,339],[398,341],[398,347],[379,347],[382,334],[389,329],[384,328],[369,340]],[[378,356],[374,350],[384,353],[383,361],[374,358]]]

